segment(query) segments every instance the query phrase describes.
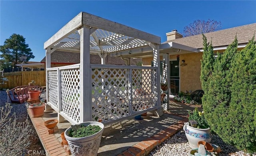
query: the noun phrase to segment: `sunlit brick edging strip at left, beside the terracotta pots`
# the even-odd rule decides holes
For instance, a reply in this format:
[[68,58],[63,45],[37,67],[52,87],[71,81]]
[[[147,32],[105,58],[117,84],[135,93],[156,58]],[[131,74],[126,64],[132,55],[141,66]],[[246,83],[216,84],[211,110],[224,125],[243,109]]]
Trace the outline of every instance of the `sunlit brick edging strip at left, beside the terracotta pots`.
[[61,146],[58,138],[54,134],[48,134],[48,129],[44,126],[44,120],[42,118],[32,118],[30,109],[28,109],[28,115],[36,129],[36,132],[40,138],[41,144],[43,144],[46,155],[48,156],[69,156],[64,148]]

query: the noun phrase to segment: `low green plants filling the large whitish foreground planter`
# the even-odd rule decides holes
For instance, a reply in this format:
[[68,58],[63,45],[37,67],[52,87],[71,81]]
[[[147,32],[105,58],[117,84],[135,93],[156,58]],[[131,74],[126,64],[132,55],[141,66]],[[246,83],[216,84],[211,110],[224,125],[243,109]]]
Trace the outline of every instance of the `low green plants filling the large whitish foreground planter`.
[[98,125],[88,125],[88,126],[84,126],[81,124],[71,125],[69,136],[73,138],[86,137],[99,132],[101,129],[102,128]]

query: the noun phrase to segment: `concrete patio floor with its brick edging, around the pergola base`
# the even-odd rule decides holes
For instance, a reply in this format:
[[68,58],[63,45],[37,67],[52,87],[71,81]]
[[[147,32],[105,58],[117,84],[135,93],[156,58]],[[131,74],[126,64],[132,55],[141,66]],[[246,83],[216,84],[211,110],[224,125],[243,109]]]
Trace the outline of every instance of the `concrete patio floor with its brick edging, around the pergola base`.
[[[98,156],[145,156],[149,154],[157,145],[183,127],[184,122],[188,120],[188,110],[192,111],[194,107],[200,107],[200,105],[189,105],[170,100],[171,110],[164,111],[161,117],[155,117],[148,112],[147,116],[143,117],[144,120],[134,120],[132,117],[105,126]],[[30,115],[29,110],[28,113]],[[50,119],[57,119],[57,113],[53,110],[45,111],[43,117],[31,118],[48,155],[66,156],[68,154],[61,146],[60,134],[70,127],[70,123],[67,120],[58,123],[59,131],[48,134],[44,121]]]

